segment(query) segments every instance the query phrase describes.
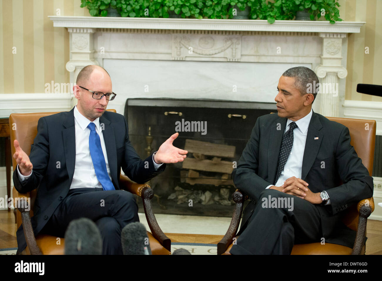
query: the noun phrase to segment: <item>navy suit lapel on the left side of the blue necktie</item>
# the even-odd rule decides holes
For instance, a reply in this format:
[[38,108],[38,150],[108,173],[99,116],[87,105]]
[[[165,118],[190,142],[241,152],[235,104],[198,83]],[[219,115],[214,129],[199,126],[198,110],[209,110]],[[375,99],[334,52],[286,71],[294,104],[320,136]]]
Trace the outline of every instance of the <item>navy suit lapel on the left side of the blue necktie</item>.
[[[74,107],[63,123],[62,138],[65,152],[66,170],[68,171],[70,183],[73,180],[74,166],[76,164],[76,131],[74,127]],[[74,149],[73,149],[74,148]]]

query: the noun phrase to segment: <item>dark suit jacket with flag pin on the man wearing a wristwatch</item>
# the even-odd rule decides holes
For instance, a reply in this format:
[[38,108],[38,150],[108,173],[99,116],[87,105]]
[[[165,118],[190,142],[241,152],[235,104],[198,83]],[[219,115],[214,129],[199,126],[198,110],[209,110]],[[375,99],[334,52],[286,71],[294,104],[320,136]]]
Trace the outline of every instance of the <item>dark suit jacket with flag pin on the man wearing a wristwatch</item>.
[[[259,200],[259,194],[267,186],[274,183],[286,121],[287,118],[277,114],[257,118],[251,138],[232,172],[235,186],[254,202]],[[280,130],[277,130],[278,124],[281,125]],[[321,161],[325,162],[325,168],[321,168]],[[347,127],[312,113],[301,179],[308,182],[312,192],[327,191],[330,197],[331,205],[316,205],[321,215],[325,241],[352,248],[355,231],[341,222],[341,215],[351,205],[372,196],[373,179],[350,145]],[[254,206],[251,202],[244,210],[240,231],[245,229]]]

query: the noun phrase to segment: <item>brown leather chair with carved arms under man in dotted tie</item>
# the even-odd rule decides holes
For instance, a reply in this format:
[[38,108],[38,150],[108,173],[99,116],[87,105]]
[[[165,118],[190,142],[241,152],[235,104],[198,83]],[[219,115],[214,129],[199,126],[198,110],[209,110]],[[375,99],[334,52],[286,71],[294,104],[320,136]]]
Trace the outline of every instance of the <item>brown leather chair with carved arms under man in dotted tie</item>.
[[[327,117],[329,120],[341,123],[349,128],[351,142],[358,157],[371,176],[374,161],[374,145],[376,140],[376,121],[351,118]],[[217,245],[218,255],[229,255],[232,248],[233,238],[239,228],[243,203],[248,196],[243,191],[236,190],[232,199],[235,201],[233,216],[227,233]],[[374,211],[373,197],[361,200],[358,204],[345,211],[342,221],[348,228],[357,232],[353,249],[331,243],[295,244],[292,255],[360,255],[365,254],[365,237],[367,218]]]

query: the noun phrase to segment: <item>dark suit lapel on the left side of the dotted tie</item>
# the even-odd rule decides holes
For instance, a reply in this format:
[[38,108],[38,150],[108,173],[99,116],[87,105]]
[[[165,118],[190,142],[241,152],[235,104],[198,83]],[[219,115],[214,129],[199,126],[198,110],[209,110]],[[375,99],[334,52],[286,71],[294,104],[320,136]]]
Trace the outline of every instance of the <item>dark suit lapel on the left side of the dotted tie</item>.
[[[280,153],[281,142],[283,139],[286,118],[277,118],[274,124],[270,124],[269,142],[268,142],[268,179],[273,184],[276,176],[276,169],[278,163],[278,155]],[[280,126],[278,126],[280,123]],[[280,128],[280,130],[278,130]]]

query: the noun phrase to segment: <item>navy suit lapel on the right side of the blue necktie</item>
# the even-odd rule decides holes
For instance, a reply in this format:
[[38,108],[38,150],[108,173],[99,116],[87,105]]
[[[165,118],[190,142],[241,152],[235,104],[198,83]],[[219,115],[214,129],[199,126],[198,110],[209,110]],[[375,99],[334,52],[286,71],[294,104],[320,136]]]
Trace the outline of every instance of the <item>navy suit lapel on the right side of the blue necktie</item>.
[[104,128],[102,131],[102,135],[104,136],[110,174],[112,175],[114,183],[119,188],[117,171],[117,147],[115,146],[114,128],[110,126],[110,121],[106,117],[104,117],[104,115],[102,115],[99,118],[99,123],[101,128]]

